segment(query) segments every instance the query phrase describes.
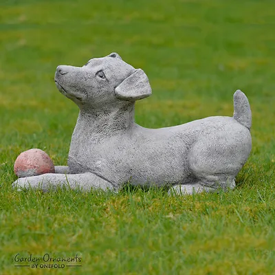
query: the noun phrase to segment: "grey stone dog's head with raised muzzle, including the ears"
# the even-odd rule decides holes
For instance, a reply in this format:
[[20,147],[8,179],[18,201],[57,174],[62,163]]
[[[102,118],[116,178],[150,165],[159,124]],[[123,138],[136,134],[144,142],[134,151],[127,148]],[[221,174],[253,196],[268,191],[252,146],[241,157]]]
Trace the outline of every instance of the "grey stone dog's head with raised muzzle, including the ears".
[[80,108],[135,102],[152,93],[142,69],[135,69],[116,53],[93,58],[83,67],[60,65],[54,80],[58,90]]

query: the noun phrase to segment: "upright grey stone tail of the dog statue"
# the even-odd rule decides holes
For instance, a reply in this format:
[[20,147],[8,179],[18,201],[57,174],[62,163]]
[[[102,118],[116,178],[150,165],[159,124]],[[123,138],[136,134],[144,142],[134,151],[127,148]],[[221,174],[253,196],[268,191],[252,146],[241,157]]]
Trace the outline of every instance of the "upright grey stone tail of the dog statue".
[[236,90],[234,93],[234,114],[233,118],[250,129],[252,124],[252,114],[248,98],[241,90]]

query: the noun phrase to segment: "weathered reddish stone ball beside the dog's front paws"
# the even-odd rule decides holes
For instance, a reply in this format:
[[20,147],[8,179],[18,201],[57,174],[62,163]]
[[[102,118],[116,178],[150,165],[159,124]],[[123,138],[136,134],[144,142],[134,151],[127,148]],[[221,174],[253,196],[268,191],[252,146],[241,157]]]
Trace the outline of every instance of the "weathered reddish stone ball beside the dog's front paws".
[[30,177],[54,173],[52,159],[41,149],[30,149],[21,153],[14,162],[17,177]]

